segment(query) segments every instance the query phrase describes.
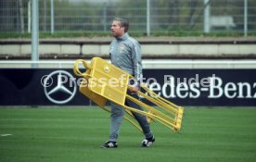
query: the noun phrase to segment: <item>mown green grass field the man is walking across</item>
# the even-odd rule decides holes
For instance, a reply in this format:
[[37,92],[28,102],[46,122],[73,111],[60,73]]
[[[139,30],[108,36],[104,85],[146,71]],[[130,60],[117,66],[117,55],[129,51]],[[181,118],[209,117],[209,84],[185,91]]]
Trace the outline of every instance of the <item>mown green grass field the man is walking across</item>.
[[256,161],[256,108],[190,107],[183,124],[174,133],[152,123],[156,143],[140,148],[124,121],[119,147],[102,149],[109,114],[99,108],[0,108],[0,162]]

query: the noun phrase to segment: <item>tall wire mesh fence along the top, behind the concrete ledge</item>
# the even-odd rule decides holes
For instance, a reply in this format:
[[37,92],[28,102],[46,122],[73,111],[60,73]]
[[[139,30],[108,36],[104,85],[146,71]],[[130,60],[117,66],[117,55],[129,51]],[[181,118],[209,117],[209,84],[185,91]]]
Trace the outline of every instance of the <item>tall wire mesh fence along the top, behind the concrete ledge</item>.
[[[31,0],[0,1],[0,34],[31,31]],[[255,34],[255,0],[39,0],[41,32],[109,33],[111,19],[130,32],[186,35]]]

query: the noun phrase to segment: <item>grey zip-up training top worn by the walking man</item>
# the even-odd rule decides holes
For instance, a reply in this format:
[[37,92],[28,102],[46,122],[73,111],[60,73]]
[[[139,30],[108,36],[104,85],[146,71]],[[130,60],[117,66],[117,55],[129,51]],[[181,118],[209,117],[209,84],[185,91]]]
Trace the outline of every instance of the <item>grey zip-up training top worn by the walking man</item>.
[[133,75],[135,81],[142,79],[140,44],[127,32],[111,42],[109,55],[113,65]]

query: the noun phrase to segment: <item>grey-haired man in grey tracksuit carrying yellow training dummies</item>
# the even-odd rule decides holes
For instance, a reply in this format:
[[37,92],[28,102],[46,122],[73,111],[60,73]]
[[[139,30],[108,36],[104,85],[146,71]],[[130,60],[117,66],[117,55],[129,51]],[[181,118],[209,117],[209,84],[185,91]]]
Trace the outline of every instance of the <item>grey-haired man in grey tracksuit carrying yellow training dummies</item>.
[[[132,89],[129,90],[128,93],[139,99],[136,92],[139,90],[139,81],[142,77],[141,50],[140,44],[127,33],[128,28],[129,22],[126,19],[113,19],[111,34],[115,37],[115,40],[110,44],[109,55],[113,65],[134,76]],[[125,101],[125,105],[142,110],[141,106],[128,100]],[[111,103],[109,141],[104,143],[101,146],[102,148],[115,148],[118,146],[117,141],[124,113],[125,111],[122,106],[117,106],[114,103]],[[138,113],[133,113],[133,115],[146,137],[146,139],[142,141],[141,146],[149,147],[155,142],[155,137],[150,131],[147,117]]]

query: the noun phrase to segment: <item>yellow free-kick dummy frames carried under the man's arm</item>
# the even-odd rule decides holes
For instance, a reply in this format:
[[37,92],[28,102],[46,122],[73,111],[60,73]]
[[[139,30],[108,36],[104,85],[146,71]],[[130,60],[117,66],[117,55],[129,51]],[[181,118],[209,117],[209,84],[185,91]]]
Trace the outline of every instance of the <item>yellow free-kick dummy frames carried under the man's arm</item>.
[[[80,65],[86,70],[81,72]],[[83,77],[79,91],[86,97],[96,103],[104,110],[111,112],[109,107],[106,107],[107,101],[111,101],[116,105],[122,106],[127,115],[126,120],[134,125],[139,131],[142,131],[139,125],[135,122],[132,112],[147,116],[149,123],[159,121],[161,124],[171,129],[172,131],[180,131],[182,127],[182,118],[184,115],[184,107],[176,106],[170,101],[160,97],[147,88],[147,85],[142,83],[141,88],[146,93],[138,91],[137,94],[143,96],[148,102],[157,107],[148,106],[146,103],[137,100],[133,96],[127,94],[129,88],[129,80],[133,76],[119,69],[106,60],[94,57],[91,63],[86,63],[83,59],[76,60],[74,64],[74,73],[77,76]],[[113,85],[113,83],[115,83]],[[144,107],[144,111],[135,109],[131,106],[125,106],[125,100],[131,100],[135,104]]]

